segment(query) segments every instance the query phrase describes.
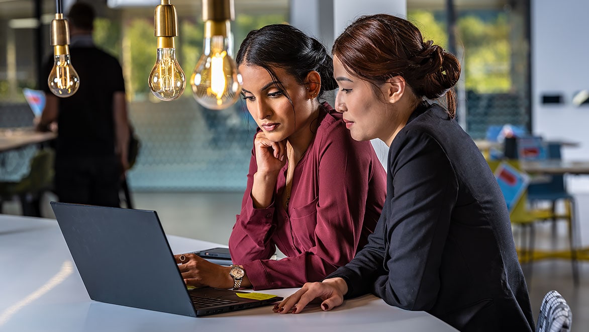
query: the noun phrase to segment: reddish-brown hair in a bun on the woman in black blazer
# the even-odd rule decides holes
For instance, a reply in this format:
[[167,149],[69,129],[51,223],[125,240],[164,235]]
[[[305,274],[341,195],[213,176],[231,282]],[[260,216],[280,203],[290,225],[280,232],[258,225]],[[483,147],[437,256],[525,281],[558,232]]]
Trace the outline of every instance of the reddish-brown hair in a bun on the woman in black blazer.
[[448,114],[456,116],[452,87],[460,77],[458,59],[433,41],[424,42],[419,29],[406,19],[362,16],[337,37],[332,52],[350,73],[373,83],[375,91],[401,75],[418,98],[445,95]]

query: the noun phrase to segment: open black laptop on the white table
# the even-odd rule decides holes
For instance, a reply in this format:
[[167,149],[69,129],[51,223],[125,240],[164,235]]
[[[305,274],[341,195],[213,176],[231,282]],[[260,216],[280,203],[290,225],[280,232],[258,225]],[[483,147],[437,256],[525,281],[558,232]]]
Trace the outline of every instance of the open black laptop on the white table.
[[94,301],[197,317],[282,300],[209,287],[188,290],[155,211],[57,202],[51,208]]

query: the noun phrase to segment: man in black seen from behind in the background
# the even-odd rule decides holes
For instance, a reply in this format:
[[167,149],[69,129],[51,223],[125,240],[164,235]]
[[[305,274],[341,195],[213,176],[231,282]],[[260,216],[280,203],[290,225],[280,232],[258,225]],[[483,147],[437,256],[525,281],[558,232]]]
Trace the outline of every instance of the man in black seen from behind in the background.
[[[80,77],[77,93],[59,98],[44,85],[47,103],[38,129],[57,122],[55,193],[61,202],[119,206],[128,169],[129,127],[123,70],[92,41],[94,9],[77,2],[67,16],[70,54]],[[48,76],[53,57],[45,65]]]

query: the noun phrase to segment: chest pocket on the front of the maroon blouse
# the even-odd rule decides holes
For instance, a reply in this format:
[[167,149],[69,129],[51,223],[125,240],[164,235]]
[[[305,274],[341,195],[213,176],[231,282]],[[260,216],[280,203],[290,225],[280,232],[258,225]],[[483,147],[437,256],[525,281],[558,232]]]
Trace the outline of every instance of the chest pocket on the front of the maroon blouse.
[[312,202],[290,210],[290,231],[293,242],[300,252],[315,246],[315,228],[317,227],[317,202]]

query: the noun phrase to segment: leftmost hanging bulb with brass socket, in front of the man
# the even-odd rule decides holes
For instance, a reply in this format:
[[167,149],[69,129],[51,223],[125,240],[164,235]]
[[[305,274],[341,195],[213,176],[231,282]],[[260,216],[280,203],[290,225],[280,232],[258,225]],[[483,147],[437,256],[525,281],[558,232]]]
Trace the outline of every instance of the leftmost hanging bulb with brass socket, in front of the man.
[[49,37],[53,46],[54,65],[47,78],[49,90],[58,97],[70,97],[80,87],[80,77],[70,60],[70,28],[64,14],[55,14]]

